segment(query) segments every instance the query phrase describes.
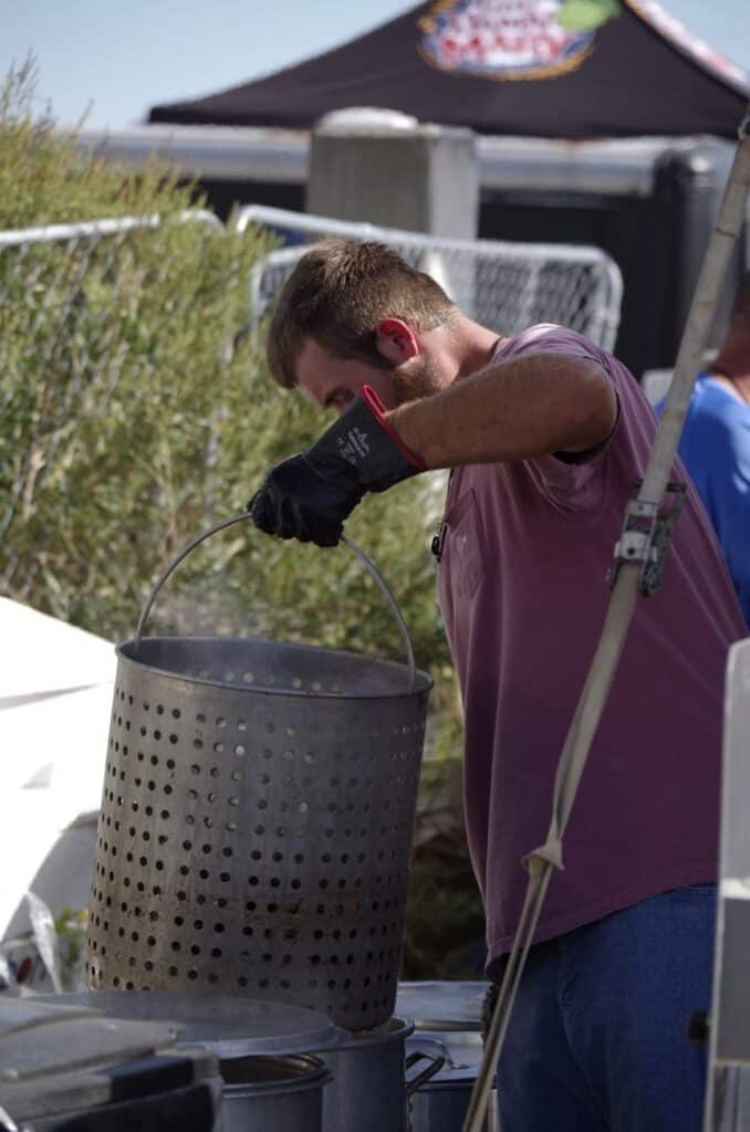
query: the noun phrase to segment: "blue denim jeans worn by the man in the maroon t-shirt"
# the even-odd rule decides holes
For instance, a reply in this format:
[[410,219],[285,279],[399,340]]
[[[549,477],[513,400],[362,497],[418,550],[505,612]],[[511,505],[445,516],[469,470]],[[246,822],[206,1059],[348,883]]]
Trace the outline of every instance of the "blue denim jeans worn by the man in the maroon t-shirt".
[[502,1132],[700,1132],[716,885],[536,944],[497,1073]]

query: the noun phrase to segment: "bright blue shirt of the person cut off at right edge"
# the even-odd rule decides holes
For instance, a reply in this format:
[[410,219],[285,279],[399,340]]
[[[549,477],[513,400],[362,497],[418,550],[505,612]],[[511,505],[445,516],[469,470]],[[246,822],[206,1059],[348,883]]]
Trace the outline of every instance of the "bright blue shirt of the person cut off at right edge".
[[[663,408],[660,401],[657,414]],[[750,404],[701,374],[677,453],[714,524],[750,628]]]

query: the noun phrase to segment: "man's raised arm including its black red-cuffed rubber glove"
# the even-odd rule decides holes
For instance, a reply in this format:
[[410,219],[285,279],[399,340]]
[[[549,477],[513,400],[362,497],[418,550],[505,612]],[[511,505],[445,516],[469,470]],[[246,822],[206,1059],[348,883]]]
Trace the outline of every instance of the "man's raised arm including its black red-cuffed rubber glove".
[[491,366],[391,413],[365,386],[314,445],[271,469],[248,508],[267,534],[333,547],[368,491],[431,468],[586,452],[616,412],[595,361],[552,352]]

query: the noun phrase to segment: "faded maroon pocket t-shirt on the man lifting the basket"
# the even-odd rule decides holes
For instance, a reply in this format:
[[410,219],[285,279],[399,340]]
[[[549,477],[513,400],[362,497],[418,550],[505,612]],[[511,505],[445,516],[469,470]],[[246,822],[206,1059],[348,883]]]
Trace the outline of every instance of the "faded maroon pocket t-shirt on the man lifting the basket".
[[[488,963],[510,950],[521,857],[545,840],[555,769],[599,640],[625,500],[656,435],[628,370],[579,334],[534,326],[497,351],[593,358],[620,417],[596,456],[455,469],[437,584],[466,713],[466,815]],[[684,479],[682,465],[676,478]],[[742,616],[692,486],[664,583],[640,598],[536,940],[716,876],[722,703]]]

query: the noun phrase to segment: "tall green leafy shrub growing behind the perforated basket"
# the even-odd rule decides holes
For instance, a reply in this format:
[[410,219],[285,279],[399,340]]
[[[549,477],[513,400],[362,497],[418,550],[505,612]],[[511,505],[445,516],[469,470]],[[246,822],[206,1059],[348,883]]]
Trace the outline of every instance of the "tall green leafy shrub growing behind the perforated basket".
[[[174,171],[83,154],[34,114],[32,92],[25,71],[0,100],[0,230],[118,216],[159,226],[0,247],[0,592],[118,640],[177,551],[242,511],[267,466],[322,422],[270,380],[264,326],[240,333],[269,234],[186,221],[196,196]],[[400,484],[365,500],[348,533],[391,585],[435,679],[429,751],[455,756],[428,554],[440,496],[428,477]],[[347,549],[282,543],[249,524],[182,564],[151,625],[403,658],[387,603]]]

